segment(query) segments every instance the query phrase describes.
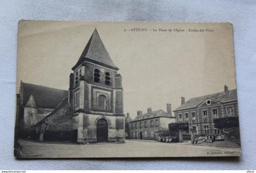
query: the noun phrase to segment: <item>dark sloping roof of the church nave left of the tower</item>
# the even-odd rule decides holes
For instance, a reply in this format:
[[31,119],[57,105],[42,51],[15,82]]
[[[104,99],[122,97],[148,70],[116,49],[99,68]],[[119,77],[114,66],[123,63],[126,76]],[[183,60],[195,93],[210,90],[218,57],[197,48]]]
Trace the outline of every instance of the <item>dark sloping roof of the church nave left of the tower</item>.
[[21,104],[24,106],[31,101],[31,95],[33,95],[34,102],[37,107],[49,108],[57,107],[64,98],[68,97],[68,90],[55,89],[23,82],[21,82],[20,87]]

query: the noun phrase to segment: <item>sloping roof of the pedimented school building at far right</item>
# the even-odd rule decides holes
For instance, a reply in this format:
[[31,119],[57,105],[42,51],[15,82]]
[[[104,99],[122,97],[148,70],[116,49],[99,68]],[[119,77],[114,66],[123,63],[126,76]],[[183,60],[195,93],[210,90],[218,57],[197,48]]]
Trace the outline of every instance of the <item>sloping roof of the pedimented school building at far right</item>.
[[236,101],[237,100],[236,89],[228,90],[227,92],[218,92],[210,95],[191,98],[190,100],[186,101],[184,104],[177,107],[177,109],[175,109],[174,111],[194,108],[198,106],[206,98],[212,98],[213,100],[217,100],[222,103],[226,103],[229,101]]

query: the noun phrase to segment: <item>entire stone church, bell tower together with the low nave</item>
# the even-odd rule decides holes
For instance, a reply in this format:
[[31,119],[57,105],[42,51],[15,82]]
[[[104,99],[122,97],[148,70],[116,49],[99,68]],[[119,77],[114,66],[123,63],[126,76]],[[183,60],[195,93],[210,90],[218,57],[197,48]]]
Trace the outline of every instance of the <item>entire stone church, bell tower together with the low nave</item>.
[[21,81],[16,105],[18,137],[124,142],[122,76],[96,29],[72,70],[68,90]]

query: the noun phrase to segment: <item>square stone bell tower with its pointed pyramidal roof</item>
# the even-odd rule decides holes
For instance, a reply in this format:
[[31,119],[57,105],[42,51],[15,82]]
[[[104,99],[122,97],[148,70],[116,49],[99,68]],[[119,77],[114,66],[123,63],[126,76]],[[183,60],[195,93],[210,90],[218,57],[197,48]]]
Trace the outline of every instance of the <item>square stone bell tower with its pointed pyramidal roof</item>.
[[72,70],[69,103],[77,142],[123,142],[122,76],[96,29]]

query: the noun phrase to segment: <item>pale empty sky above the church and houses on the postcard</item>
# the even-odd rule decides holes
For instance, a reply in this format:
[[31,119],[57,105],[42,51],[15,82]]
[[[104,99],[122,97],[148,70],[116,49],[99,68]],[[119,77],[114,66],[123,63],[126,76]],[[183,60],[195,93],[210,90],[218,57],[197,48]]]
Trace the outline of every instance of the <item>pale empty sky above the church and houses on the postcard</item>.
[[222,92],[224,84],[236,88],[228,23],[20,21],[16,91],[21,80],[68,90],[95,28],[123,76],[124,114],[132,118],[148,107],[166,111],[166,103],[174,110],[180,97]]

